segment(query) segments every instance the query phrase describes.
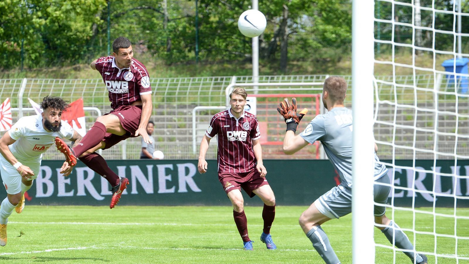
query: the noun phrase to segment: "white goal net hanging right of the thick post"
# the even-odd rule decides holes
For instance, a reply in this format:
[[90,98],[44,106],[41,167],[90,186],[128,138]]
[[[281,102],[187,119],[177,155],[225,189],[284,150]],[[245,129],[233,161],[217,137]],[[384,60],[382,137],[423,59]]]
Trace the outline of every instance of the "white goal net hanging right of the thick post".
[[[374,43],[374,136],[393,186],[386,215],[428,263],[469,263],[469,1],[364,2],[374,3],[374,38],[360,40]],[[378,229],[374,246],[375,263],[410,263]]]

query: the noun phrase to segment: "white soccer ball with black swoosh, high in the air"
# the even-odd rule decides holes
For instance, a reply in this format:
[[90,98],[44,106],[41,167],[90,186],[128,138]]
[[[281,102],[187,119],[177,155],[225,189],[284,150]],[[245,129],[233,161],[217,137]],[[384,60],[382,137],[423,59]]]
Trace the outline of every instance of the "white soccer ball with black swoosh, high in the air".
[[238,29],[249,38],[254,38],[262,34],[265,30],[267,21],[264,14],[259,10],[249,9],[242,12],[238,19]]

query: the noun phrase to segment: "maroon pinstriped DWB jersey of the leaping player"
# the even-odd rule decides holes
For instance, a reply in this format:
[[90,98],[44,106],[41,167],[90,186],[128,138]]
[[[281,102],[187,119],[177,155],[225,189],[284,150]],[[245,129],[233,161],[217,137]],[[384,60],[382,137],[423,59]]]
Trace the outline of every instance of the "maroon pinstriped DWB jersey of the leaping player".
[[95,64],[109,91],[112,109],[140,101],[142,94],[151,94],[150,77],[142,62],[132,59],[129,68],[119,69],[114,60],[113,56],[101,57]]

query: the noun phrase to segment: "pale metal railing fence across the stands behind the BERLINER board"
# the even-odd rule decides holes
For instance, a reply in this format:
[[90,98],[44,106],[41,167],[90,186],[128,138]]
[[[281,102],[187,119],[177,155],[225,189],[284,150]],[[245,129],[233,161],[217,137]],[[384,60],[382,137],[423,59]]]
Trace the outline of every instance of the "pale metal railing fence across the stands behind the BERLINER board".
[[[274,94],[287,93],[290,95],[299,93],[321,93],[321,85],[310,85],[306,83],[322,83],[326,75],[297,75],[297,76],[260,76],[258,87],[248,87],[248,93]],[[351,85],[350,76],[342,76]],[[375,123],[375,137],[380,150],[379,155],[383,159],[392,158],[392,152],[396,158],[413,158],[414,152],[407,148],[395,148],[396,146],[411,146],[416,149],[429,149],[434,144],[434,136],[437,135],[439,151],[447,153],[469,153],[469,142],[466,138],[458,135],[469,135],[468,118],[468,96],[459,94],[456,96],[455,89],[445,78],[434,78],[433,75],[413,76],[378,76],[376,77],[378,94],[378,108]],[[23,90],[21,84],[23,82]],[[237,77],[194,77],[194,78],[151,78],[153,89],[153,112],[151,120],[155,122],[153,137],[156,140],[156,149],[165,153],[166,159],[197,159],[198,144],[200,137],[213,114],[219,109],[198,110],[196,117],[196,153],[193,149],[193,109],[196,107],[223,107],[227,105],[226,89],[230,84],[252,84],[251,76]],[[275,85],[272,85],[275,83]],[[297,83],[297,85],[285,85]],[[298,83],[304,85],[298,85]],[[417,90],[413,87],[418,87]],[[457,86],[457,85],[456,85]],[[349,86],[350,89],[351,86]],[[96,107],[101,112],[107,113],[111,110],[108,101],[108,92],[102,79],[0,79],[0,100],[9,97],[12,107],[30,107],[27,98],[33,101],[42,101],[46,95],[61,96],[69,101],[83,98],[85,107]],[[438,92],[435,92],[435,89]],[[346,98],[346,106],[351,106],[351,93]],[[436,96],[436,97],[435,97]],[[258,99],[264,103],[263,109],[274,111],[281,98],[273,101]],[[299,104],[311,104],[302,98]],[[387,101],[398,101],[403,105],[417,105],[417,109],[402,107],[396,109]],[[322,109],[322,108],[321,108]],[[422,111],[422,109],[429,109]],[[441,113],[435,119],[435,111]],[[265,110],[266,111],[266,110]],[[448,114],[446,112],[455,113]],[[319,111],[320,112],[320,111]],[[34,114],[24,111],[24,115]],[[262,115],[262,114],[261,114]],[[267,114],[267,116],[269,116]],[[272,116],[272,115],[271,115]],[[95,111],[85,111],[86,126],[89,128],[96,120]],[[312,118],[313,115],[305,117]],[[455,118],[457,117],[457,118]],[[13,112],[13,121],[17,120],[17,112]],[[270,118],[270,117],[269,117]],[[438,122],[435,122],[438,120]],[[282,120],[267,120],[270,126],[283,127]],[[277,122],[277,123],[276,123]],[[356,121],[357,122],[357,121]],[[306,122],[305,122],[306,123]],[[356,123],[357,124],[357,123]],[[396,127],[397,125],[397,127]],[[394,132],[394,127],[396,127]],[[436,133],[424,132],[414,127],[429,127]],[[268,131],[271,131],[269,129]],[[279,129],[274,129],[277,131]],[[438,131],[445,132],[440,135]],[[269,132],[270,133],[270,132]],[[453,134],[451,134],[453,133]],[[271,137],[272,138],[272,137]],[[278,140],[281,140],[279,138]],[[215,144],[211,144],[215,145]],[[106,159],[138,159],[141,151],[141,138],[132,138],[105,150],[102,155]],[[277,150],[266,151],[264,158],[315,158],[315,146],[301,155],[286,156],[279,155]],[[277,146],[278,148],[278,146]],[[207,159],[216,158],[216,146],[211,146],[207,153]],[[45,155],[45,159],[62,159],[55,149],[51,148]],[[416,158],[433,158],[431,152],[416,151]],[[443,155],[439,158],[448,158]]]

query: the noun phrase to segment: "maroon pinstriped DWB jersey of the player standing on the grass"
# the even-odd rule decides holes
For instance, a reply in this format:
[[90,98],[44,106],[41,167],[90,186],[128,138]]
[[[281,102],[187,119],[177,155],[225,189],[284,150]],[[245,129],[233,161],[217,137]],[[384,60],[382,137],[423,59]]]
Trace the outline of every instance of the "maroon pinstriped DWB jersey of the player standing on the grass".
[[205,135],[217,135],[219,172],[243,173],[256,168],[252,140],[260,139],[261,132],[253,114],[244,111],[236,119],[229,109],[219,112],[212,117]]

